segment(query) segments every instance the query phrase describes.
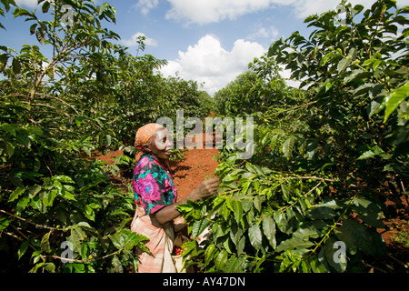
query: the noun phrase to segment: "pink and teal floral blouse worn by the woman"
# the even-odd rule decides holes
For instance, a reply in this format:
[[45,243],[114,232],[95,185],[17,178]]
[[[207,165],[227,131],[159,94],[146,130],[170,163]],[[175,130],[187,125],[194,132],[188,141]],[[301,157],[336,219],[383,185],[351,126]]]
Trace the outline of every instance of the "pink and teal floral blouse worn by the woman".
[[146,215],[174,204],[177,199],[169,168],[149,155],[142,156],[135,166],[133,188],[135,202],[144,206]]

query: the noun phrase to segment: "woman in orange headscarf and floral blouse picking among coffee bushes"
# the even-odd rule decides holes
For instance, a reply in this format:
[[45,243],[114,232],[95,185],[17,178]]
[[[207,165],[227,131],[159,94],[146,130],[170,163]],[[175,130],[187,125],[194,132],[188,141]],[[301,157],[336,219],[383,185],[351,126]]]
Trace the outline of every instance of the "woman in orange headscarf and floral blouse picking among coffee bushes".
[[136,211],[131,230],[149,238],[146,246],[150,251],[150,254],[138,254],[139,273],[176,272],[171,256],[173,221],[180,216],[176,206],[185,204],[187,199],[197,201],[211,196],[220,184],[217,177],[205,180],[192,193],[177,201],[168,166],[171,145],[170,134],[162,125],[144,125],[136,133],[135,147],[139,153],[135,157],[133,188]]

